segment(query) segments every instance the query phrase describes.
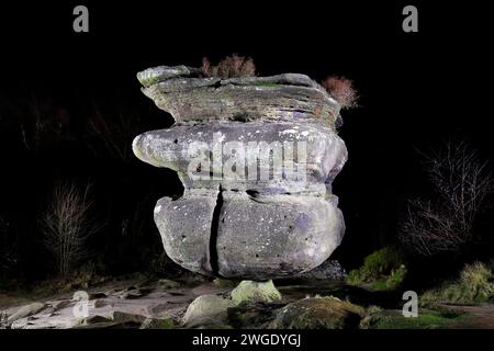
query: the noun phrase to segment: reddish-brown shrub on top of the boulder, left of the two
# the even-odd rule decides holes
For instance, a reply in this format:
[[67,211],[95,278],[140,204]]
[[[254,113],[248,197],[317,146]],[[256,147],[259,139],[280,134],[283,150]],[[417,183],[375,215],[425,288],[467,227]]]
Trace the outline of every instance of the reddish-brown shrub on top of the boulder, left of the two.
[[207,57],[202,59],[202,72],[205,77],[238,78],[255,77],[256,66],[250,57],[233,54],[226,56],[216,66],[212,66]]

